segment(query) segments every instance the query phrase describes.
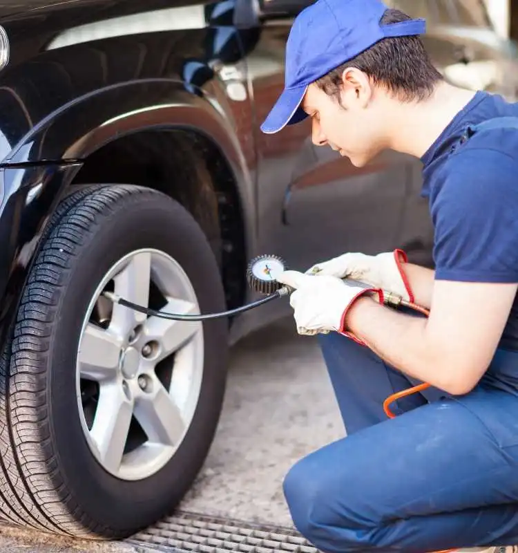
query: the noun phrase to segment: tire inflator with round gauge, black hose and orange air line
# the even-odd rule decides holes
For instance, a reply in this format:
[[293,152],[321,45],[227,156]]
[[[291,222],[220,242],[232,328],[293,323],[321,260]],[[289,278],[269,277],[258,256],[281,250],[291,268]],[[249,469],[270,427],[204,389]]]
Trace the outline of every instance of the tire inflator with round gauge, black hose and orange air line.
[[[132,303],[131,301],[120,297],[118,294],[115,294],[115,292],[103,292],[103,295],[110,301],[113,301],[113,303],[119,303],[121,306],[133,309],[140,313],[144,313],[145,315],[150,315],[151,317],[160,317],[161,319],[170,319],[173,321],[207,321],[211,319],[224,319],[225,317],[233,317],[234,315],[238,315],[239,313],[249,311],[258,306],[262,306],[269,301],[273,301],[274,299],[285,297],[291,294],[293,290],[289,286],[282,285],[281,283],[278,283],[276,281],[276,275],[285,271],[286,268],[287,265],[285,261],[276,255],[261,255],[252,259],[247,268],[248,284],[252,290],[254,290],[255,292],[260,292],[261,294],[265,294],[266,297],[257,301],[253,301],[252,303],[248,303],[245,306],[241,306],[239,308],[231,309],[228,311],[222,311],[219,313],[207,313],[204,315],[182,315],[180,313],[168,313],[164,311],[149,309],[144,306],[139,306],[137,305],[137,303]],[[343,279],[343,281],[350,285],[370,288],[369,285],[359,281],[353,281],[350,279]],[[417,305],[416,303],[406,301],[396,294],[385,292],[383,296],[384,303],[387,306],[392,306],[393,308],[409,308],[421,312],[427,317],[429,315],[427,309]],[[394,393],[387,397],[385,402],[383,402],[383,410],[385,411],[387,417],[396,417],[396,415],[394,415],[394,413],[390,411],[390,404],[392,404],[396,400],[400,400],[401,397],[406,397],[407,395],[419,393],[420,391],[423,391],[425,390],[425,388],[428,387],[430,387],[430,384],[419,384],[419,386],[408,388],[407,390]]]

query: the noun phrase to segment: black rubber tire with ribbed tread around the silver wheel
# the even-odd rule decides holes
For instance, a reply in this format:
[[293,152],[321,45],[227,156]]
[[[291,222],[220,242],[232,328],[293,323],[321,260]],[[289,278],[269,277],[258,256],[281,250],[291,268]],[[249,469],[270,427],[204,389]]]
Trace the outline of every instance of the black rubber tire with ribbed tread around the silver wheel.
[[226,308],[220,272],[193,217],[133,185],[77,191],[44,238],[0,367],[0,510],[50,532],[124,538],[170,513],[207,457],[224,398],[228,322],[203,323],[200,397],[173,458],[148,478],[119,480],[93,456],[79,417],[75,367],[88,304],[108,269],[143,247],[182,265],[202,312]]

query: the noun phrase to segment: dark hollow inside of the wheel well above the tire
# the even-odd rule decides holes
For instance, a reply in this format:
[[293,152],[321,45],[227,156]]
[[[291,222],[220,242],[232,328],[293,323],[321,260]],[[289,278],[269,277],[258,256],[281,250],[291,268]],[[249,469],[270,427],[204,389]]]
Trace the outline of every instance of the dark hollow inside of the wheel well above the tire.
[[206,135],[171,127],[141,129],[115,138],[83,160],[70,189],[97,182],[142,185],[182,204],[211,244],[227,305],[242,305],[246,214],[229,162]]

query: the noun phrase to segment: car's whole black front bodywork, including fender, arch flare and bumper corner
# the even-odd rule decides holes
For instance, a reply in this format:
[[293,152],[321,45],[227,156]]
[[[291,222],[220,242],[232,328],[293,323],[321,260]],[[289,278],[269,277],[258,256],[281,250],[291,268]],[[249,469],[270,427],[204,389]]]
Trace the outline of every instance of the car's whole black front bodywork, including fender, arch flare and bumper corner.
[[[84,0],[8,17],[0,5],[10,40],[10,61],[0,71],[0,227],[5,229],[0,236],[9,243],[2,266],[11,275],[9,281],[0,277],[3,306],[12,306],[4,301],[6,289],[21,294],[39,236],[81,167],[78,162],[126,133],[188,129],[209,138],[231,168],[245,222],[242,232],[253,248],[256,153],[242,49],[248,39],[253,44],[254,32],[247,29],[249,16],[240,6],[240,0],[174,5]],[[128,15],[144,16],[133,32],[126,26]],[[162,21],[156,30],[165,16],[166,24]],[[117,17],[123,24],[114,33]],[[242,30],[236,21],[244,21]],[[93,23],[97,29],[87,29],[89,37],[83,30],[75,35],[77,44],[70,44],[70,28],[74,35],[77,26]],[[93,37],[99,28],[110,36]],[[63,162],[67,171],[58,170]],[[41,180],[42,166],[61,177],[61,185],[50,188],[48,179]],[[31,209],[22,209],[23,197],[35,187],[40,194]],[[51,190],[57,194],[54,201],[41,203]]]

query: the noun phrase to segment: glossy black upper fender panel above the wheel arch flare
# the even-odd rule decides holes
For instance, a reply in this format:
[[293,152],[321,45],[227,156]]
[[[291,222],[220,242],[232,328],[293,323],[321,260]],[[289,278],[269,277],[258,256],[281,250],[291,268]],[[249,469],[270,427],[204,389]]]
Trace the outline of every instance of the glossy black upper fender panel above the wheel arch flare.
[[[126,34],[123,34],[119,31],[118,35],[113,35],[113,32],[109,31],[114,26],[124,29],[124,25],[117,24],[115,17],[98,19],[97,12],[100,8],[92,8],[96,5],[105,6],[104,11],[113,15],[116,4],[123,13],[128,11],[126,4],[133,5],[133,12],[143,19],[144,24],[136,26],[133,32],[127,30]],[[153,4],[162,9],[155,13]],[[151,81],[157,82],[160,79],[178,83],[191,95],[205,95],[213,102],[229,102],[229,97],[224,94],[225,84],[218,75],[221,68],[216,64],[225,66],[235,60],[239,62],[242,56],[238,31],[218,21],[227,19],[224,12],[219,17],[214,17],[215,21],[211,20],[208,14],[210,7],[215,4],[166,8],[166,15],[172,22],[163,24],[155,31],[153,21],[156,17],[164,17],[163,6],[166,4],[164,1],[94,3],[84,0],[65,3],[63,6],[70,7],[62,7],[61,10],[57,9],[58,6],[53,10],[47,8],[51,10],[49,13],[46,10],[38,10],[41,11],[37,18],[39,34],[28,40],[28,44],[24,44],[26,41],[18,37],[18,30],[23,27],[25,32],[30,32],[33,24],[30,12],[26,15],[27,19],[4,19],[3,27],[11,42],[11,56],[7,68],[0,73],[0,106],[3,107],[0,120],[0,131],[3,134],[0,141],[0,159],[8,162],[13,157],[11,150],[21,145],[18,143],[20,140],[28,140],[26,137],[35,125],[49,127],[50,120],[56,115],[62,116],[62,112],[68,111],[72,104],[88,100],[91,103],[85,106],[85,110],[88,109],[88,113],[90,110],[95,111],[97,105],[93,97],[115,86],[123,87],[142,82],[140,88],[143,93],[137,93],[140,100],[134,101],[135,109],[153,106],[153,102],[157,101],[157,95],[170,100],[164,94],[162,86],[162,90],[158,92],[151,89],[147,91],[150,98],[146,102],[145,85],[152,88]],[[136,10],[137,5],[140,6],[140,12]],[[82,6],[81,12],[88,13],[88,19],[84,16],[79,19],[78,15],[74,17],[73,12],[79,10],[79,6]],[[175,13],[175,10],[178,10],[178,13]],[[191,27],[189,17],[186,17],[189,10],[192,12]],[[231,6],[231,17],[233,12],[235,10]],[[153,17],[153,21],[148,21],[146,16],[148,19]],[[124,21],[126,17],[133,16],[121,15],[118,19]],[[178,21],[178,18],[181,20]],[[81,32],[85,25],[88,28],[84,21],[90,20],[95,23],[89,25],[95,24],[99,28],[102,28],[102,25],[106,26],[108,37],[96,39],[99,32],[95,30]],[[70,27],[73,21],[81,25]],[[70,40],[69,32],[77,37],[75,43]],[[61,42],[61,37],[65,37],[65,44]],[[196,89],[197,79],[201,86],[206,85],[203,91]],[[121,90],[121,95],[126,93],[131,96],[135,92],[124,88]],[[102,104],[113,99],[113,96],[106,97],[98,102]],[[122,97],[116,100],[129,101]],[[164,98],[160,98],[160,101],[164,101]],[[247,109],[251,109],[248,97],[240,99],[240,102],[246,102]],[[216,106],[216,109],[226,116],[227,122],[231,120],[229,115],[232,108],[229,103]],[[102,106],[100,109],[106,118],[110,118],[119,115],[117,112],[124,109],[124,106],[115,103]],[[113,114],[109,113],[111,109]],[[84,120],[88,118],[84,113]],[[77,122],[76,119],[74,123]],[[65,147],[68,147],[68,144]],[[60,155],[64,155],[64,151],[52,152],[52,156]],[[28,161],[42,158],[46,158],[46,155],[37,152],[36,156],[28,158]]]

